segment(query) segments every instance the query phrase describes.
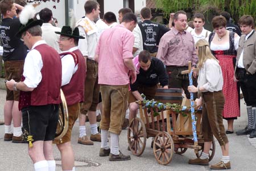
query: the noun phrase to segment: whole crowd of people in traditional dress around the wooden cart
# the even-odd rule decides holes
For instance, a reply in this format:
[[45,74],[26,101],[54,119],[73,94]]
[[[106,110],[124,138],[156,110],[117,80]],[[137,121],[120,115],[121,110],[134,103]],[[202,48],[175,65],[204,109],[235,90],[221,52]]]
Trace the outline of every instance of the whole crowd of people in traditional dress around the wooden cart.
[[[7,86],[4,140],[28,143],[35,170],[55,170],[52,143],[60,151],[62,169],[75,170],[71,133],[77,119],[78,143],[100,141],[101,157],[130,160],[119,151],[119,135],[136,117],[135,101],[143,100],[142,93],[153,99],[159,86],[183,89],[187,99],[195,93],[197,107],[203,106],[204,151],[189,164],[209,165],[214,136],[222,159],[210,168],[231,168],[226,134],[233,134],[234,120],[240,116],[240,88],[248,124],[236,134],[256,137],[256,34],[252,16],[243,15],[238,28],[230,23],[228,12],[222,12],[212,19],[214,30],[210,32],[205,30],[205,18],[200,13],[193,15],[194,28],[188,26],[184,11],[171,13],[166,27],[150,20],[147,7],[141,10],[141,22],[131,9],[123,8],[118,12],[118,24],[111,11],[100,19],[100,5],[88,0],[85,16],[75,28],[59,28],[50,9],[40,10],[35,17],[34,6],[21,2],[0,2]],[[192,86],[188,74],[181,74],[189,61],[192,69],[199,68],[199,73],[193,72]],[[68,107],[68,131],[56,141],[60,90]],[[101,109],[101,120],[97,109]],[[86,118],[90,136],[86,135]],[[226,130],[223,119],[228,120]]]

